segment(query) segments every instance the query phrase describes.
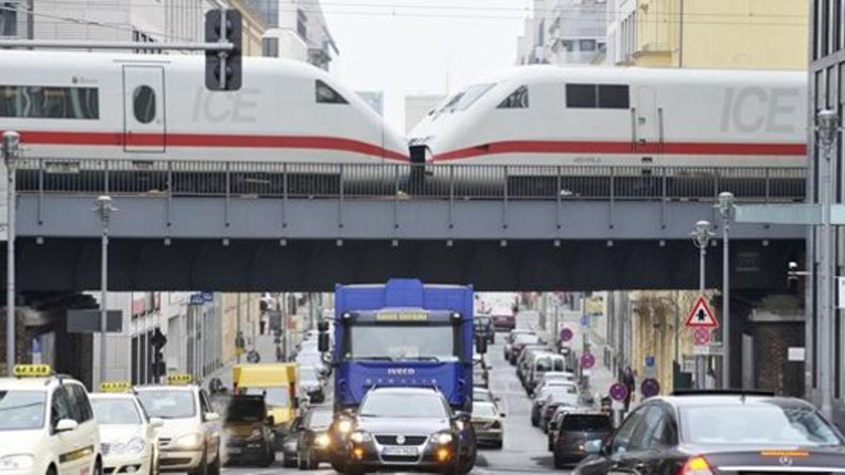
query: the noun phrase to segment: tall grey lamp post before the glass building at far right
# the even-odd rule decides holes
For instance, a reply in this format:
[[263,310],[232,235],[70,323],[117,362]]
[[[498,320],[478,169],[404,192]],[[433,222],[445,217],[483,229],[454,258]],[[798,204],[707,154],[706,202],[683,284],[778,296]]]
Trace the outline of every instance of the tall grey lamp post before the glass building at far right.
[[816,115],[816,131],[821,144],[819,169],[819,201],[821,206],[821,243],[819,256],[819,298],[821,302],[819,328],[814,329],[819,336],[819,390],[821,392],[821,412],[828,418],[833,415],[833,249],[831,238],[831,183],[833,181],[833,154],[837,148],[839,116],[831,110],[820,111]]

